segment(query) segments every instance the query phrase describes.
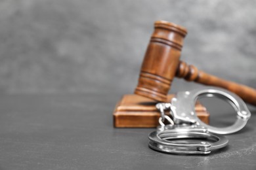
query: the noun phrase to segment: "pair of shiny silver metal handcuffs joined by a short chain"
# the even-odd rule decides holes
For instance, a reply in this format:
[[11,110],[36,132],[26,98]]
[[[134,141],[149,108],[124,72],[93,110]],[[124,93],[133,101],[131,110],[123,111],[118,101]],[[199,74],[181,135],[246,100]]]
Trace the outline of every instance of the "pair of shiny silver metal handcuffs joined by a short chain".
[[[196,116],[194,109],[196,101],[202,97],[218,97],[228,101],[236,110],[236,122],[228,127],[213,127],[203,123]],[[242,129],[251,116],[251,112],[238,95],[211,86],[178,92],[171,99],[171,103],[158,103],[156,108],[161,112],[160,126],[148,135],[148,146],[171,154],[209,154],[213,150],[223,148],[228,144],[228,139],[223,135]],[[172,118],[165,114],[166,110],[169,110]]]

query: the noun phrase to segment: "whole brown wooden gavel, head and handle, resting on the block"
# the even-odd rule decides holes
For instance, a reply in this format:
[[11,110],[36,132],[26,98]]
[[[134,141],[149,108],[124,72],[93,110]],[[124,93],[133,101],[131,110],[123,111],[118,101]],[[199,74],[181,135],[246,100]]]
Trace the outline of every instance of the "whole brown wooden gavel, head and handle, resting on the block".
[[199,71],[194,65],[180,61],[186,28],[171,22],[154,24],[150,43],[142,62],[135,93],[167,102],[167,94],[175,76],[209,86],[218,86],[239,95],[245,102],[256,105],[256,90],[248,86],[224,80]]

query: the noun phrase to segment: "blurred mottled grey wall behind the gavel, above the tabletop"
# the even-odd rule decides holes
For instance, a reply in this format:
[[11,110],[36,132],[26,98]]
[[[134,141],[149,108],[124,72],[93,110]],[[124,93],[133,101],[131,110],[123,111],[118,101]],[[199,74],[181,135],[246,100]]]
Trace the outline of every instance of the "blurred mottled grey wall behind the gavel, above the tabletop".
[[[133,93],[156,20],[188,29],[181,59],[256,88],[256,1],[0,2],[0,92]],[[197,86],[175,79],[171,91]]]

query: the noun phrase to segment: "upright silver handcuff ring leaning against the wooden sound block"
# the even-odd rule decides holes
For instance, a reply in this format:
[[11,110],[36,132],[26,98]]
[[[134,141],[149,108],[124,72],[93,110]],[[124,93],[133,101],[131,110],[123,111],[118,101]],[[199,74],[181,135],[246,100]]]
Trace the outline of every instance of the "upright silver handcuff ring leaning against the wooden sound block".
[[[203,123],[198,116],[196,116],[196,111],[194,110],[196,101],[202,97],[218,97],[224,101],[228,101],[234,110],[236,110],[236,122],[228,127],[213,127]],[[198,124],[207,127],[208,131],[218,134],[229,134],[239,131],[246,125],[247,120],[251,117],[251,112],[247,109],[244,101],[238,97],[238,95],[222,88],[207,87],[190,92],[179,92],[177,96],[172,99],[171,105],[173,106],[172,114],[175,124]]]

